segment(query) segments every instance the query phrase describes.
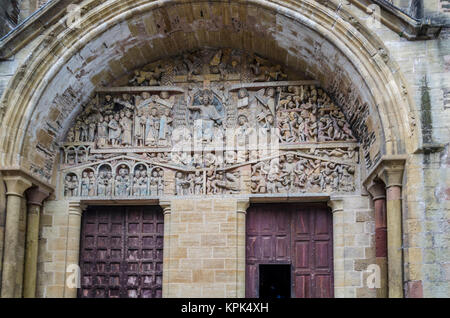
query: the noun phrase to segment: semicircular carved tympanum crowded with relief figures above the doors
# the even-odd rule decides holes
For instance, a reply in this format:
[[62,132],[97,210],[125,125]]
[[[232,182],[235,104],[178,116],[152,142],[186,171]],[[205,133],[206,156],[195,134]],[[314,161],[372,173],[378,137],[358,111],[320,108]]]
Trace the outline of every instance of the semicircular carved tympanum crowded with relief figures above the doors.
[[99,88],[61,144],[62,194],[357,191],[357,137],[367,126],[353,115],[365,106],[345,106],[346,118],[345,98],[290,77],[259,56],[205,49],[118,81],[129,86]]

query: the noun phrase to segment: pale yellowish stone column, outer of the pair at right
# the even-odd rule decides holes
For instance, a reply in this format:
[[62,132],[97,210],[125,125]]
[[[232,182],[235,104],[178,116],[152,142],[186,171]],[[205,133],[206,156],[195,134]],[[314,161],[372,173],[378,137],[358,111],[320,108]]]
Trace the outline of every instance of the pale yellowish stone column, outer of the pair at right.
[[379,176],[386,185],[389,298],[403,298],[403,164],[385,164]]

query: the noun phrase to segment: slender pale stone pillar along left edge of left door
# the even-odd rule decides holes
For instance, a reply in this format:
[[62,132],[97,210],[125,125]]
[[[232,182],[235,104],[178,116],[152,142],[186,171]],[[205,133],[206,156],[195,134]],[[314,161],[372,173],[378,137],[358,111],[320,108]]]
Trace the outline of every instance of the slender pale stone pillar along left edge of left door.
[[[69,202],[69,220],[67,223],[67,258],[66,258],[66,281],[64,285],[64,298],[76,298],[77,288],[69,286],[69,280],[72,283],[79,283],[80,272],[73,271],[71,265],[80,264],[80,231],[81,231],[81,216],[83,214],[84,206],[80,202]],[[69,275],[76,275],[74,279],[70,279]]]

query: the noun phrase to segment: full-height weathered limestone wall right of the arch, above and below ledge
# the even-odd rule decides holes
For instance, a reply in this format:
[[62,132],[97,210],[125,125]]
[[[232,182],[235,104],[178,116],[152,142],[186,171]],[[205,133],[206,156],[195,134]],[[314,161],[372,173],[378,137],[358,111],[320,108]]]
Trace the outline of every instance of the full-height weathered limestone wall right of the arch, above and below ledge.
[[[424,1],[425,16],[437,14],[441,5],[438,0]],[[438,152],[431,154],[411,149],[416,153],[407,160],[402,224],[405,296],[448,297],[450,29],[444,28],[438,39],[428,41],[407,41],[382,25],[373,31],[383,39],[390,58],[408,81],[405,88],[409,95],[405,98],[412,98],[416,105],[410,113],[414,123],[411,136],[420,134],[424,145],[447,145],[442,149],[432,147]],[[407,148],[412,146],[411,140],[406,141]]]

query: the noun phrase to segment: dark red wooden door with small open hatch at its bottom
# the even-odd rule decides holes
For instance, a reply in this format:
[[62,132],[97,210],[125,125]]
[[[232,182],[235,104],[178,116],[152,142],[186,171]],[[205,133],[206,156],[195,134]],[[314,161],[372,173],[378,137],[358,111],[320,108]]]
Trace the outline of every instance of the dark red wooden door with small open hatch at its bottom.
[[324,204],[256,204],[247,213],[246,296],[260,264],[291,264],[292,297],[333,297],[332,215]]

